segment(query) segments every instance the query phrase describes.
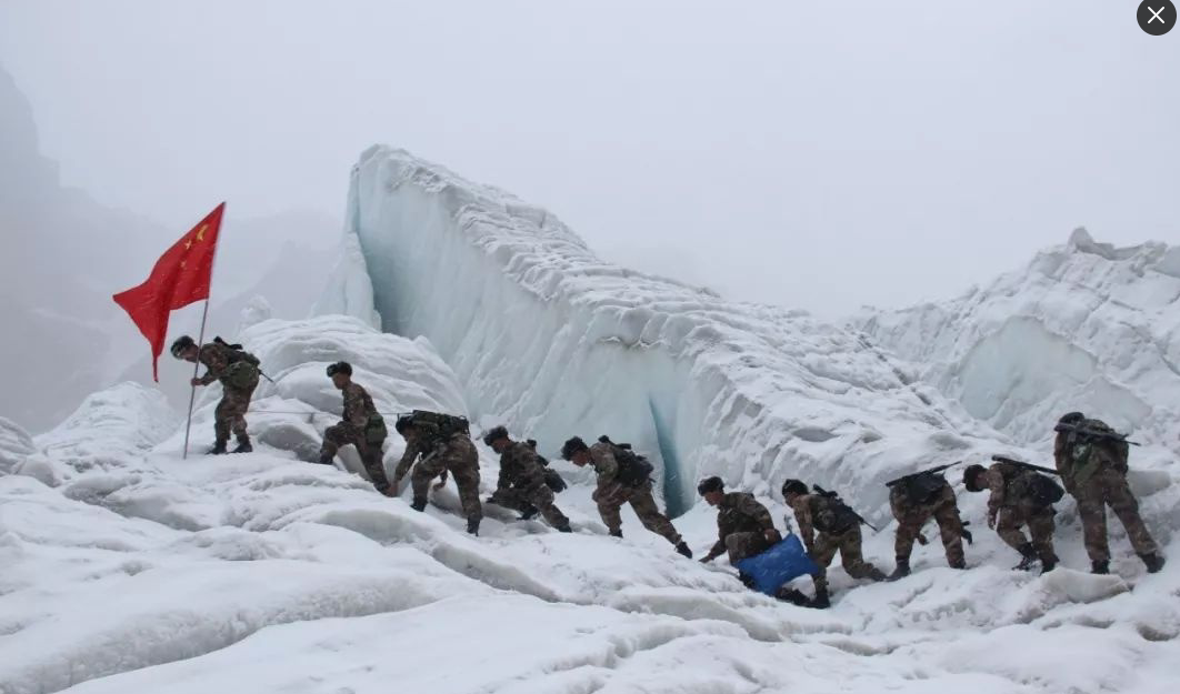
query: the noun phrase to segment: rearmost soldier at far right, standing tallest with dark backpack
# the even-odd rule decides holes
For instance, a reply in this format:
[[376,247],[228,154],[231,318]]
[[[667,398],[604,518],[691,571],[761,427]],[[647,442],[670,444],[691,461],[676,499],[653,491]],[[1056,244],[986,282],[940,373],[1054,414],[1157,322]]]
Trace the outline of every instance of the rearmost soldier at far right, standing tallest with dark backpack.
[[1053,457],[1061,481],[1074,498],[1082,517],[1086,553],[1095,574],[1110,571],[1110,546],[1107,538],[1106,507],[1119,516],[1127,538],[1143,560],[1149,573],[1163,568],[1165,558],[1139,515],[1139,502],[1127,485],[1126,437],[1101,419],[1087,419],[1081,412],[1069,412],[1054,428],[1057,438]]

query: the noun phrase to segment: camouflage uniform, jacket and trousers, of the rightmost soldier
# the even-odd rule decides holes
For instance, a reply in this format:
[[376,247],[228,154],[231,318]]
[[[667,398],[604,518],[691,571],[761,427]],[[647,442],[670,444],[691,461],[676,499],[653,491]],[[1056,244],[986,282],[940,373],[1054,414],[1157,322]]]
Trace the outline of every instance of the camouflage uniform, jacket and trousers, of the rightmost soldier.
[[[1086,429],[1106,430],[1110,428],[1100,419],[1086,419]],[[1077,513],[1082,517],[1082,535],[1086,553],[1094,563],[1110,561],[1110,544],[1107,538],[1106,507],[1110,507],[1123,528],[1127,538],[1139,555],[1154,555],[1158,551],[1155,541],[1142,516],[1139,515],[1139,502],[1127,485],[1127,444],[1120,442],[1095,442],[1088,461],[1077,464],[1075,452],[1077,444],[1073,435],[1060,431],[1054,442],[1053,456],[1061,472],[1061,481],[1074,498],[1077,500]],[[1120,450],[1121,448],[1121,450]]]

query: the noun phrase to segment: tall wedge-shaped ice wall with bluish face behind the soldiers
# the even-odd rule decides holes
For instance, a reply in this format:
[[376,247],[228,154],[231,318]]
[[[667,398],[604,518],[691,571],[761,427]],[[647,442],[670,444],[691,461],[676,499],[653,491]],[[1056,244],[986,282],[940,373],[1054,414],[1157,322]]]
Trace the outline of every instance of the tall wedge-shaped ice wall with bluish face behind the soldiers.
[[607,264],[544,210],[404,151],[366,151],[348,206],[354,275],[327,305],[369,319],[340,300],[367,272],[385,329],[428,337],[485,424],[550,454],[575,434],[631,441],[662,462],[674,511],[706,474],[762,494],[805,475],[879,503],[871,482],[994,434],[844,329]]

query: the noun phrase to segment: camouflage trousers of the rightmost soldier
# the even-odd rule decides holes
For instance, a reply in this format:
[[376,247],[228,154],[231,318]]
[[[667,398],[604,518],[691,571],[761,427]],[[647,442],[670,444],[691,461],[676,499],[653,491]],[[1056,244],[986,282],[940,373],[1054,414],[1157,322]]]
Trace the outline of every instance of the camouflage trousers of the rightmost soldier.
[[1071,490],[1077,500],[1077,513],[1082,517],[1082,536],[1086,553],[1092,562],[1110,561],[1110,544],[1107,538],[1106,507],[1110,507],[1127,529],[1127,538],[1136,554],[1154,554],[1155,541],[1139,515],[1139,502],[1127,485],[1127,476],[1117,470],[1103,468],[1090,476],[1084,484]]

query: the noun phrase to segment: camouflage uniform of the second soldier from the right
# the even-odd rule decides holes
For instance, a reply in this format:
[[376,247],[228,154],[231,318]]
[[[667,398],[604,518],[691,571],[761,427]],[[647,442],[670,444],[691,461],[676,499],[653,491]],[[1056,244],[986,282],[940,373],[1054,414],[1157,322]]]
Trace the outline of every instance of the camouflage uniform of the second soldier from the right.
[[988,497],[988,520],[996,521],[996,534],[1009,547],[1024,554],[1029,544],[1021,530],[1029,527],[1032,536],[1031,546],[1041,561],[1056,564],[1057,555],[1053,551],[1053,517],[1057,511],[1051,505],[1037,505],[1021,489],[1028,487],[1030,477],[1037,475],[1032,470],[1011,463],[996,463],[983,474],[983,481],[991,491]]

